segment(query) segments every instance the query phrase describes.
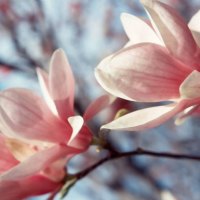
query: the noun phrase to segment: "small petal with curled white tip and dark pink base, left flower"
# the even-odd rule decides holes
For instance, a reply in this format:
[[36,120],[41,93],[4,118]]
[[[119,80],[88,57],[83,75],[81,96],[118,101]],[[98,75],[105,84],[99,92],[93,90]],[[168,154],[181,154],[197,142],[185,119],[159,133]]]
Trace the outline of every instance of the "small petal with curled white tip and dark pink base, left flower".
[[92,134],[89,128],[84,125],[84,121],[81,116],[70,117],[68,118],[68,121],[73,129],[68,145],[85,151],[89,147],[92,140]]

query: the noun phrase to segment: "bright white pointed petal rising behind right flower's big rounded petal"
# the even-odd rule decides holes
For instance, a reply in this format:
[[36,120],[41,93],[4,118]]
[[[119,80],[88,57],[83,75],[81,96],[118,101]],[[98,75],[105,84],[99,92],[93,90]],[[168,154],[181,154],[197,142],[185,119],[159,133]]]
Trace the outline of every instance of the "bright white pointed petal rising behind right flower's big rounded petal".
[[122,13],[121,21],[132,45],[143,42],[164,45],[154,30],[142,19],[127,13]]

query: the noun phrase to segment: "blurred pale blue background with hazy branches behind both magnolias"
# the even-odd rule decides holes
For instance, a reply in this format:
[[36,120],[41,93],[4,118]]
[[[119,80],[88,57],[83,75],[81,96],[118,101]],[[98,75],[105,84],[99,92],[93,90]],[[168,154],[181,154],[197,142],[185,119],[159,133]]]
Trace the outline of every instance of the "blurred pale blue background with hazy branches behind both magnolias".
[[[188,21],[200,8],[199,0],[166,0]],[[94,68],[121,48],[127,37],[120,13],[146,17],[139,0],[0,0],[0,90],[26,87],[40,93],[35,68],[48,69],[52,52],[63,48],[76,79],[76,109],[82,114],[103,94]],[[22,97],[23,98],[23,97]],[[91,124],[94,132],[120,108],[134,110],[150,104],[117,100]],[[122,151],[140,147],[155,151],[199,154],[199,119],[179,127],[173,121],[148,133],[113,132],[109,140]],[[70,162],[76,172],[105,156],[91,148]],[[200,163],[188,160],[134,157],[99,167],[73,187],[67,200],[199,200]],[[34,197],[31,199],[46,199]]]

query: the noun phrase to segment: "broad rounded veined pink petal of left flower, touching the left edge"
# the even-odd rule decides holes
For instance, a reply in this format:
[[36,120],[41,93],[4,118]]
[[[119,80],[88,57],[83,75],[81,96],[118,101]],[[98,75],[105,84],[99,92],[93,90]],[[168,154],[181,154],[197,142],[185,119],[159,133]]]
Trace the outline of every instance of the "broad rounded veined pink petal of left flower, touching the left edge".
[[58,120],[43,100],[26,89],[0,93],[0,121],[3,134],[21,139],[66,142],[71,127]]

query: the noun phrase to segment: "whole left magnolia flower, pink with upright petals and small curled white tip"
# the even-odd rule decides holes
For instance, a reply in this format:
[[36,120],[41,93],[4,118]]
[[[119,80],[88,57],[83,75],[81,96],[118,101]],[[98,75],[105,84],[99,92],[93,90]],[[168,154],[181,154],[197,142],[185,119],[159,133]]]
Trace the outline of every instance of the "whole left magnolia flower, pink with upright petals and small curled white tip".
[[62,50],[53,54],[49,71],[37,69],[44,100],[22,88],[0,92],[0,196],[5,200],[57,190],[68,159],[91,143],[85,121],[113,101],[104,95],[83,118],[75,116],[74,77]]

